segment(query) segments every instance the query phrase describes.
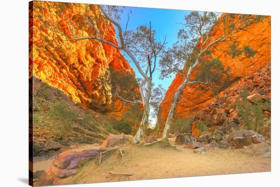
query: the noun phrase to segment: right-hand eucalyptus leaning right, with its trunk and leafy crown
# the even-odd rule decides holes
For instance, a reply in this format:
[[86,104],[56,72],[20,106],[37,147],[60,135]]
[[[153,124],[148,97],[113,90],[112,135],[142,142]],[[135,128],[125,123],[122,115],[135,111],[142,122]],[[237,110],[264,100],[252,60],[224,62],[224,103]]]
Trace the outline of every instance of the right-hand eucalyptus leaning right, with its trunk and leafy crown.
[[[160,60],[161,78],[169,77],[172,73],[178,74],[182,82],[175,91],[173,102],[165,121],[163,139],[167,139],[171,120],[174,116],[179,96],[183,89],[191,84],[209,84],[211,79],[205,72],[203,81],[195,80],[191,76],[193,71],[199,71],[199,65],[208,63],[212,58],[212,51],[221,50],[226,53],[235,52],[232,48],[220,49],[218,44],[236,41],[235,34],[262,20],[256,15],[222,14],[212,12],[191,12],[185,16],[184,28],[179,30],[178,41],[167,49]],[[217,25],[217,26],[214,26]],[[246,51],[248,46],[246,46]],[[244,49],[244,52],[246,52]]]

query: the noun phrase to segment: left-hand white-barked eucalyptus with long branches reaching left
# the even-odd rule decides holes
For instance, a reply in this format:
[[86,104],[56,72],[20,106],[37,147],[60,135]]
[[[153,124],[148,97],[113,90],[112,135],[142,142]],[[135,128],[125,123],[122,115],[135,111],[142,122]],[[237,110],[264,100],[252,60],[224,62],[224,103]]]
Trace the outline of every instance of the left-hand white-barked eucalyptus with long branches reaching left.
[[[122,50],[131,58],[139,74],[141,75],[141,80],[139,81],[141,100],[130,101],[126,98],[122,98],[118,93],[116,93],[116,95],[125,102],[143,104],[143,117],[141,123],[139,124],[137,133],[133,138],[133,143],[139,143],[141,142],[142,136],[145,132],[146,124],[149,119],[152,77],[156,70],[157,56],[162,52],[162,49],[166,44],[165,37],[162,43],[156,40],[156,32],[151,28],[151,22],[149,26],[138,26],[136,31],[127,30],[129,14],[126,27],[123,29],[121,24],[118,22],[120,20],[121,14],[124,12],[123,7],[97,5],[101,14],[95,15],[92,13],[91,15],[93,17],[91,17],[89,12],[93,11],[93,6],[94,5],[87,5],[85,8],[85,24],[88,24],[93,30],[93,34],[90,36],[85,36],[84,34],[78,36],[78,33],[82,32],[76,32],[76,29],[79,28],[75,28],[73,22],[64,15],[63,11],[61,11],[60,14],[65,19],[65,21],[69,22],[68,27],[71,30],[71,36],[66,35],[62,29],[60,30],[56,27],[53,27],[53,25],[48,24],[48,21],[44,20],[41,16],[38,16],[38,18],[48,29],[54,33],[57,33],[59,37],[64,37],[68,41],[96,40],[110,45],[116,49]],[[106,39],[102,38],[102,33],[99,29],[101,27],[100,25],[102,25],[102,19],[109,21],[116,27],[118,33],[118,43],[107,41]],[[146,85],[145,88],[144,85]]]

